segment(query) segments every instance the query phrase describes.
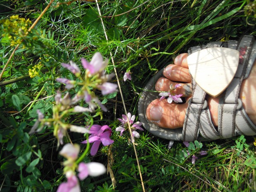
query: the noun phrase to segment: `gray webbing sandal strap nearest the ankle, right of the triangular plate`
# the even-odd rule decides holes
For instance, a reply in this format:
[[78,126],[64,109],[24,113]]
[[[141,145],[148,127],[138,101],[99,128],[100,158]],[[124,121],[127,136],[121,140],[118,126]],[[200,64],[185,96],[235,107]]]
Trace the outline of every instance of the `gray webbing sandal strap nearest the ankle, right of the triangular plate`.
[[239,65],[229,87],[225,90],[223,100],[218,106],[218,130],[222,138],[229,138],[239,134],[255,135],[256,126],[251,122],[244,109],[238,105],[240,86],[250,71],[252,64],[251,54],[254,45],[253,36],[243,36],[236,47],[239,51]]

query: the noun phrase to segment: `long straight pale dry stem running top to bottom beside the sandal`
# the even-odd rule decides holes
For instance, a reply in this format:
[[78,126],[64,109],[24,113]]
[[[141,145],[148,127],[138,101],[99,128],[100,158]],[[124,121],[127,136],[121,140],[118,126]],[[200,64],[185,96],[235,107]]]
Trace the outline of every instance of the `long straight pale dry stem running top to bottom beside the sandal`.
[[[147,0],[146,2],[148,2],[149,0]],[[144,2],[143,4],[145,4],[146,2]],[[100,20],[102,22],[102,26],[103,26],[103,30],[104,30],[104,33],[105,33],[105,37],[106,37],[106,40],[108,41],[108,37],[107,37],[107,33],[106,33],[106,29],[105,29],[105,25],[104,25],[104,22],[103,22],[103,19],[102,19],[102,15],[101,15],[101,12],[100,12],[100,6],[98,4],[98,1],[96,0],[96,4],[97,4],[97,8],[98,8],[98,11],[99,11],[99,14],[100,14]],[[143,5],[141,4],[141,5]],[[141,6],[140,5],[140,6]],[[140,7],[139,6],[139,7]],[[137,7],[135,7],[137,8]],[[127,110],[126,110],[126,105],[124,103],[124,99],[123,99],[123,93],[122,93],[122,90],[121,90],[121,85],[120,85],[120,82],[119,82],[119,78],[118,78],[118,75],[117,75],[117,72],[116,72],[116,66],[115,66],[115,62],[114,62],[114,57],[112,55],[112,52],[110,51],[110,57],[111,57],[111,60],[112,60],[112,63],[113,63],[113,66],[114,66],[114,71],[115,71],[115,74],[116,74],[116,80],[117,80],[117,84],[118,84],[118,87],[119,87],[119,91],[120,91],[120,95],[121,95],[121,98],[122,98],[122,102],[123,102],[123,108],[124,108],[124,111],[126,113],[126,116],[127,115]],[[134,152],[135,152],[135,156],[136,156],[136,160],[137,160],[137,166],[138,166],[138,170],[139,170],[139,173],[140,173],[140,181],[141,181],[141,185],[142,185],[142,189],[143,189],[143,192],[145,192],[145,187],[144,187],[144,183],[143,183],[143,178],[142,178],[142,173],[141,173],[141,170],[140,170],[140,162],[139,162],[139,159],[138,159],[138,156],[137,156],[137,151],[136,151],[136,147],[135,147],[135,142],[133,140],[133,137],[132,137],[132,129],[130,127],[130,122],[128,122],[128,127],[129,127],[129,131],[130,131],[130,135],[131,135],[131,139],[132,139],[132,143],[133,143],[133,149],[134,149]]]

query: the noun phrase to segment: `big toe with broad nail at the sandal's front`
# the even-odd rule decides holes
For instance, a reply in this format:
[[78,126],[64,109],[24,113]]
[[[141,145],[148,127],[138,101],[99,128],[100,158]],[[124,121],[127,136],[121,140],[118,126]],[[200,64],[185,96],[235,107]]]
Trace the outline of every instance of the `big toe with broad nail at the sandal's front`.
[[156,99],[147,107],[146,116],[149,121],[163,128],[183,127],[187,103],[169,104],[166,99]]

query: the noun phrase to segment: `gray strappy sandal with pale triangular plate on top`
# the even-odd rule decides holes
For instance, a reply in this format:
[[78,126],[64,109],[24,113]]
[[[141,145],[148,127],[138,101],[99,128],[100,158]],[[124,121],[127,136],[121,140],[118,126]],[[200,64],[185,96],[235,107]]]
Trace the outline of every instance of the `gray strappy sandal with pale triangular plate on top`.
[[[256,59],[254,37],[246,35],[239,41],[212,42],[191,47],[188,55],[187,61],[192,75],[192,97],[188,102],[183,128],[161,128],[146,117],[147,106],[159,98],[159,92],[154,92],[155,83],[163,76],[164,69],[150,79],[140,97],[138,112],[143,126],[153,135],[176,141],[206,141],[236,135],[256,135],[256,126],[247,116],[242,101],[238,98],[240,85],[249,76]],[[210,66],[210,70],[206,69],[206,66]],[[211,78],[215,78],[214,81]],[[216,97],[222,92],[225,94],[218,105],[219,126],[216,128],[211,121],[205,97],[206,94]]]

